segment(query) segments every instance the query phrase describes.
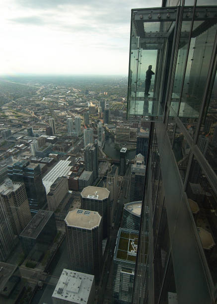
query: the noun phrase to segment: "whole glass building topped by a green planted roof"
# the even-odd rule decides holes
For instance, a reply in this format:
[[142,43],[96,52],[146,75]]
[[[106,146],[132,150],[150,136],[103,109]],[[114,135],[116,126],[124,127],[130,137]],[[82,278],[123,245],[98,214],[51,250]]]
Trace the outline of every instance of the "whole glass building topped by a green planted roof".
[[139,231],[119,228],[114,253],[113,303],[131,304]]

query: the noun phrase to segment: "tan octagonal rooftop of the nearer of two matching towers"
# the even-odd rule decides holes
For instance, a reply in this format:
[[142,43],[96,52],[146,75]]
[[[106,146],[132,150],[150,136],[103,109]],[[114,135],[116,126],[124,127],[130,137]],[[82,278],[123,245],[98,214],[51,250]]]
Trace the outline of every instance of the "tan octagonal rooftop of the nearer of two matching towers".
[[98,212],[74,209],[70,211],[65,219],[68,226],[92,229],[99,226],[101,221],[101,216]]

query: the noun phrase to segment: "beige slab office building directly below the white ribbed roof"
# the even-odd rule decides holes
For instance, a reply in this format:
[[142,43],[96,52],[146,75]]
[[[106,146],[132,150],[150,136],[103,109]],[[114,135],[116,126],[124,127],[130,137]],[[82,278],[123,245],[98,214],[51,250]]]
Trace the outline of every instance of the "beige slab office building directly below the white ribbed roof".
[[48,210],[56,211],[58,207],[63,210],[69,199],[68,179],[65,176],[58,177],[47,194]]

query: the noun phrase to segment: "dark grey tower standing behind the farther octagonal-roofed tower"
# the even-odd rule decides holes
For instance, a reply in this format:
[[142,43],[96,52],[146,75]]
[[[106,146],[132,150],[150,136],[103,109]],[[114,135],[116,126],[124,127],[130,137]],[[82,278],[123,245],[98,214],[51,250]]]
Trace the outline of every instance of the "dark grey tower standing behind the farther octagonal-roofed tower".
[[93,171],[93,178],[98,178],[98,147],[97,144],[89,144],[84,149],[84,168]]

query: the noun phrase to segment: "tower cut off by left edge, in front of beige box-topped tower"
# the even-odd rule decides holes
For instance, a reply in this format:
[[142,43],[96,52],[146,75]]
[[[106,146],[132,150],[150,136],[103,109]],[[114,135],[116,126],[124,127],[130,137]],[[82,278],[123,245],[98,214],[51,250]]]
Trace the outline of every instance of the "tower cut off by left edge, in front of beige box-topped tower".
[[0,261],[5,261],[15,245],[13,229],[3,199],[0,197]]

